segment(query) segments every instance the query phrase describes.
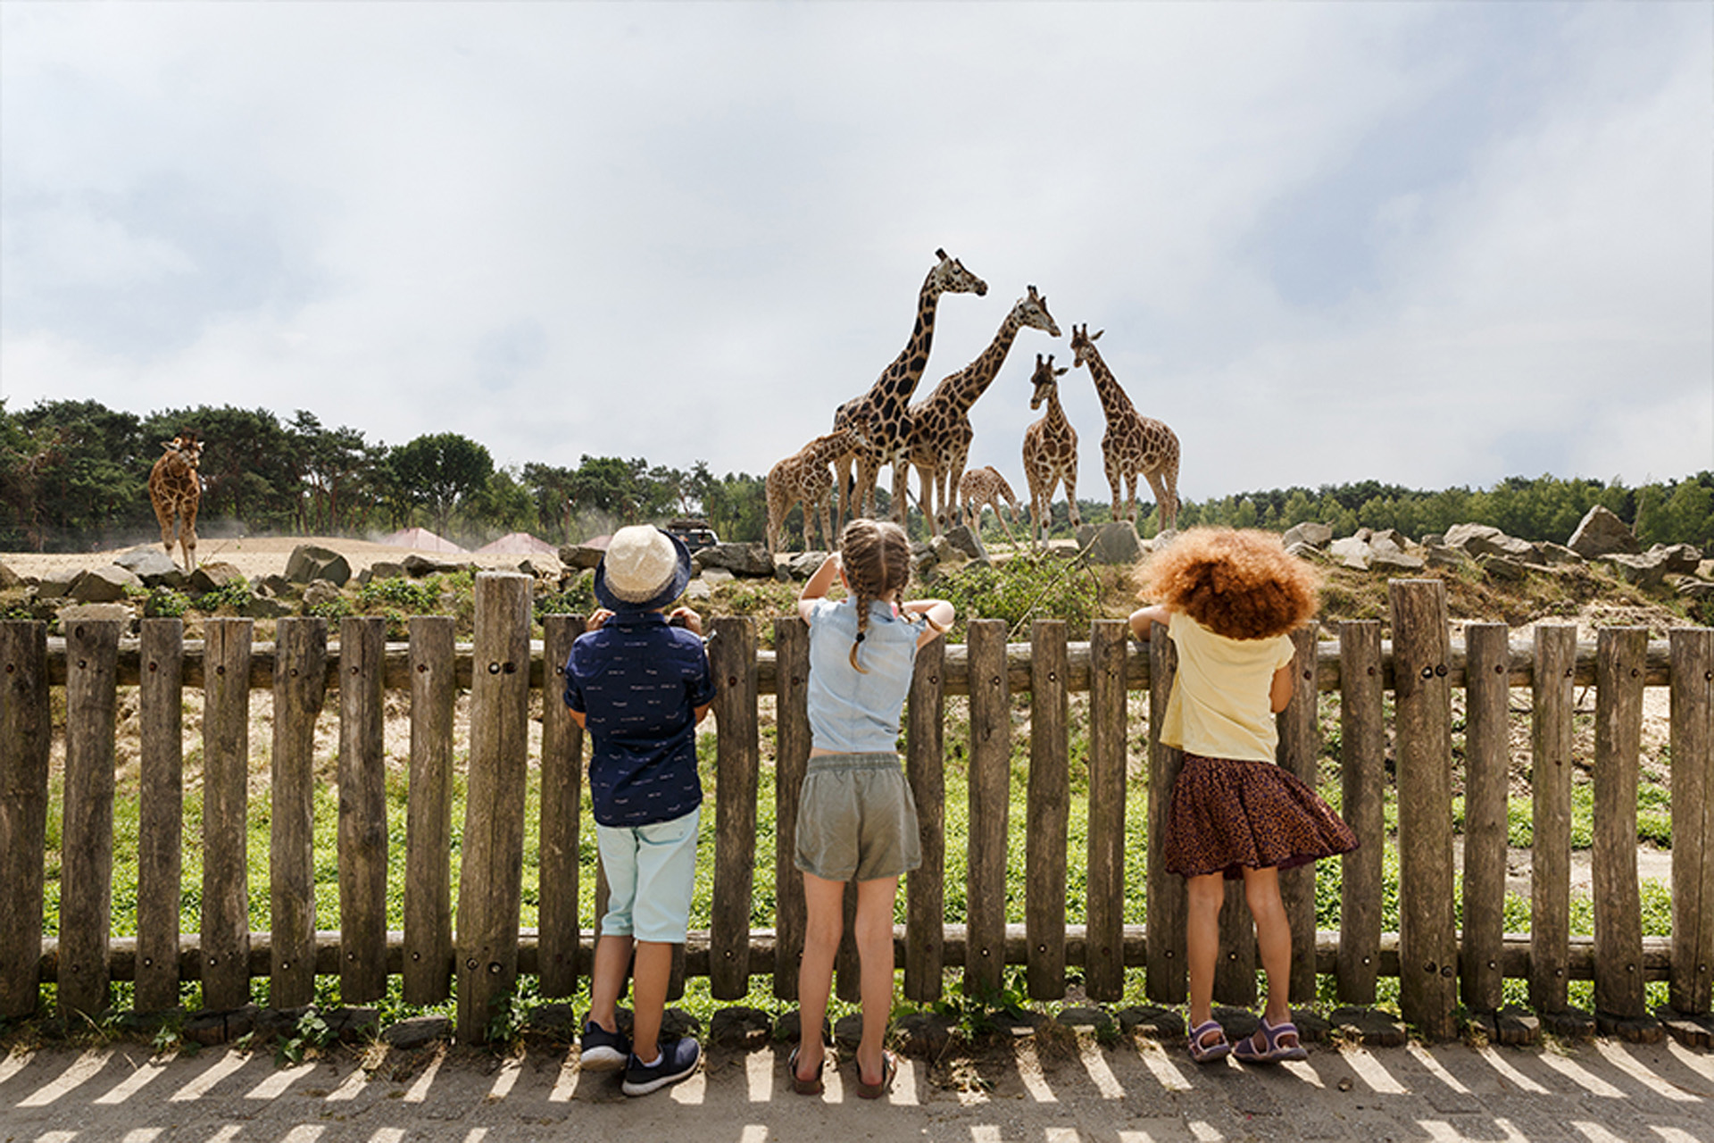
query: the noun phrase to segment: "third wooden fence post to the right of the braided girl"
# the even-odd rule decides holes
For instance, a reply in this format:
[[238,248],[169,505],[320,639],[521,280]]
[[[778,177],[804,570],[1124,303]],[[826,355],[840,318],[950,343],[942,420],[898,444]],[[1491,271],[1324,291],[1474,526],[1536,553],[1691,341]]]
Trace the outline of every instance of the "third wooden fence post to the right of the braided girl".
[[[1119,703],[1124,703],[1123,672]],[[1037,619],[1030,625],[1030,787],[1023,857],[1028,871],[1023,889],[1023,927],[1028,937],[1025,975],[1030,997],[1037,1001],[1058,1001],[1066,994],[1066,833],[1071,819],[1068,706],[1064,620]],[[1119,749],[1124,749],[1123,739]],[[1124,781],[1123,768],[1119,781]],[[1090,802],[1094,800],[1092,781]],[[1094,805],[1090,817],[1094,819]],[[1090,838],[1094,845],[1094,828]],[[1088,896],[1094,896],[1094,886],[1090,889]]]

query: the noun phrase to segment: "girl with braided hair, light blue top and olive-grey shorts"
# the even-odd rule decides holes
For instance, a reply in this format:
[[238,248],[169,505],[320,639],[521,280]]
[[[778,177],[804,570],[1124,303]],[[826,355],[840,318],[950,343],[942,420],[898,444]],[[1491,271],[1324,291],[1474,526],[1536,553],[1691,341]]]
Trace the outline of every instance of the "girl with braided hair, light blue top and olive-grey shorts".
[[[838,579],[845,598],[828,589]],[[792,1090],[821,1092],[821,1023],[845,924],[845,883],[857,883],[862,1042],[857,1095],[879,1098],[896,1062],[884,1050],[893,1011],[893,900],[898,876],[922,864],[917,804],[898,764],[898,716],[917,648],[946,634],[953,605],[908,600],[910,542],[891,521],[854,519],[797,596],[809,624],[809,771],[797,804],[797,853],[807,925],[797,975],[799,1042]]]

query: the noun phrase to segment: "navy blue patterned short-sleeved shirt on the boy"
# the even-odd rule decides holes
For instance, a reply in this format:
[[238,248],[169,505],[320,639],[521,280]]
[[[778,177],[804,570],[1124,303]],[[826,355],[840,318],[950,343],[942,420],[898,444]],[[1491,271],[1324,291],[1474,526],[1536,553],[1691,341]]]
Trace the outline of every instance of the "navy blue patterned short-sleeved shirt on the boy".
[[703,804],[696,708],[715,697],[703,641],[662,612],[617,612],[566,660],[566,706],[595,742],[590,797],[603,826],[650,826]]

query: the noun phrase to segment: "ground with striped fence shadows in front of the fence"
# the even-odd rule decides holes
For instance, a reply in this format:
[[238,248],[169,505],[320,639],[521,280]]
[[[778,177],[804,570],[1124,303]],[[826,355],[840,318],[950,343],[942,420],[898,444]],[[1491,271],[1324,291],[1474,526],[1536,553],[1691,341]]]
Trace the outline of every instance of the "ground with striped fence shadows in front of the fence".
[[535,1140],[929,1140],[958,1143],[1363,1143],[1507,1140],[1714,1143],[1714,1057],[1675,1042],[1500,1049],[1318,1047],[1274,1068],[1198,1068],[1178,1045],[1034,1040],[958,1069],[903,1061],[859,1100],[850,1064],[821,1097],[790,1088],[783,1049],[711,1049],[691,1080],[641,1098],[576,1050],[372,1049],[279,1068],[211,1049],[19,1052],[0,1061],[5,1143],[524,1143]]

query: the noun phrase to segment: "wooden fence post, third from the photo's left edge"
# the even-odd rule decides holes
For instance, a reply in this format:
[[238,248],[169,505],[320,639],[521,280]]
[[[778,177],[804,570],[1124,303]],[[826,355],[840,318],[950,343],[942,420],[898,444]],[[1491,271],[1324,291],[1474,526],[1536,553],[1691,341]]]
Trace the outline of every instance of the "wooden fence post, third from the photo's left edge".
[[[142,620],[137,721],[137,1011],[178,1008],[185,852],[185,620]],[[0,732],[3,733],[3,732]]]

